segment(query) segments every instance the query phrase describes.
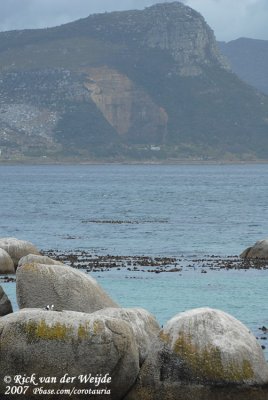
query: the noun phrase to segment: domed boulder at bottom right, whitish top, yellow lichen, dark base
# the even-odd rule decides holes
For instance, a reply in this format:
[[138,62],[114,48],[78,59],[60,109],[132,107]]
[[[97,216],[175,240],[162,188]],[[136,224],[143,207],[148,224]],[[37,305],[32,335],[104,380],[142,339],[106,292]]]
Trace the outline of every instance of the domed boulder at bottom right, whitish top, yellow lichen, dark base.
[[209,308],[172,318],[124,400],[267,400],[267,364],[248,329]]

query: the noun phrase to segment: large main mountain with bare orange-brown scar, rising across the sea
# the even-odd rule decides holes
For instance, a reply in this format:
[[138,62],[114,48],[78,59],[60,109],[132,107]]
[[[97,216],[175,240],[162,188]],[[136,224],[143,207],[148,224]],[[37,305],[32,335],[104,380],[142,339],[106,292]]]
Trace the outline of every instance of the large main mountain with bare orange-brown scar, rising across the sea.
[[2,160],[266,159],[267,128],[182,3],[0,34]]

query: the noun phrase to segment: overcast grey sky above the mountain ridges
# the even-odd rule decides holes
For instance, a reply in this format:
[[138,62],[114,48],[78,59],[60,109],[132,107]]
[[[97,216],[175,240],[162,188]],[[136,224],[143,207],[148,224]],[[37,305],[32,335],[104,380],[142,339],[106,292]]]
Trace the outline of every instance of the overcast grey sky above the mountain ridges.
[[[60,25],[89,14],[143,9],[165,0],[0,0],[0,31]],[[218,40],[268,40],[268,0],[183,0],[201,12]]]

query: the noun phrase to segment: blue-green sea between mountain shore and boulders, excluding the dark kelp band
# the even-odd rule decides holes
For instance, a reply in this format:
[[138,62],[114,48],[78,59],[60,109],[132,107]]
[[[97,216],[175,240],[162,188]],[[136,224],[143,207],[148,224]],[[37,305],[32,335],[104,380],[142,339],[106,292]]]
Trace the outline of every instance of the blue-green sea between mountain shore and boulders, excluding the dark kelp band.
[[[0,165],[0,237],[41,250],[206,259],[238,256],[268,237],[268,165]],[[179,312],[221,309],[265,347],[268,270],[94,272],[122,306],[164,325]],[[16,304],[15,283],[0,284]]]

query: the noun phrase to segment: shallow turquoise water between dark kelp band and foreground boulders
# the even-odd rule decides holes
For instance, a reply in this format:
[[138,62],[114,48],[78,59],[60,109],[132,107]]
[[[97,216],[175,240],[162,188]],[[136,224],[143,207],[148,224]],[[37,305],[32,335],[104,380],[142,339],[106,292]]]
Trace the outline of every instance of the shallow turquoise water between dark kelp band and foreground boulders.
[[[207,270],[185,268],[181,273],[133,272],[112,270],[92,273],[110,296],[124,307],[142,307],[164,325],[179,312],[198,307],[211,307],[233,315],[256,335],[268,326],[268,271]],[[2,283],[17,309],[15,283]],[[268,360],[267,340],[265,345]]]

